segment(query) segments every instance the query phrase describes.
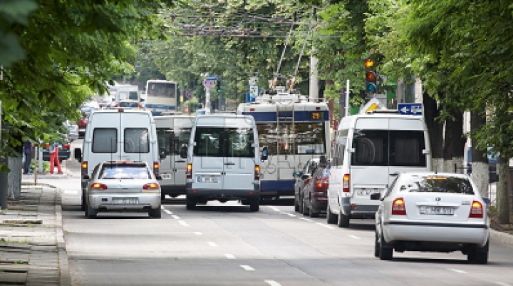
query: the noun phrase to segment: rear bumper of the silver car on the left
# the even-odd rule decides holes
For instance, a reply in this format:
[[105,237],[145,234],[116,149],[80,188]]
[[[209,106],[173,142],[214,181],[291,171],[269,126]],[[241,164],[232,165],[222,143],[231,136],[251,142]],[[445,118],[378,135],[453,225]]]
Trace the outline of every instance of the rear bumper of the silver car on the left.
[[[113,198],[137,198],[137,204],[114,204]],[[88,202],[91,208],[96,210],[126,210],[126,211],[143,211],[160,208],[160,193],[141,194],[90,194]]]

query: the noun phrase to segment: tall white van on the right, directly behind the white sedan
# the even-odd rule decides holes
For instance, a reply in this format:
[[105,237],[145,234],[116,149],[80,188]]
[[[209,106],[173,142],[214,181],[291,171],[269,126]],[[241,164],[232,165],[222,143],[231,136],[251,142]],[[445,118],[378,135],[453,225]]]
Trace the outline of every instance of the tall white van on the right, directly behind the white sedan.
[[[381,111],[384,112],[384,111]],[[336,131],[328,186],[328,223],[374,218],[371,200],[399,173],[431,170],[430,140],[422,116],[388,113],[344,117]]]

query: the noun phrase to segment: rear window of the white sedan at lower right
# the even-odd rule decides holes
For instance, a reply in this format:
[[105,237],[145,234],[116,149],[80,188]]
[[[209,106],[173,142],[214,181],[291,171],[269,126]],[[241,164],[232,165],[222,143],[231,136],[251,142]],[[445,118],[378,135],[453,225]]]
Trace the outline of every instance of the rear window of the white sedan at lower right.
[[413,175],[401,180],[401,192],[417,193],[459,193],[474,195],[470,180],[445,175]]

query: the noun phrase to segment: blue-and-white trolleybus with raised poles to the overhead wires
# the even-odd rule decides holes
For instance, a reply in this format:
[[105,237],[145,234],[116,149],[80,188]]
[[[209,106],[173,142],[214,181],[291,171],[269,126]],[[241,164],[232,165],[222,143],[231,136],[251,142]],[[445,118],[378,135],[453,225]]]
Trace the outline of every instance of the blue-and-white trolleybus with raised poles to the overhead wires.
[[310,158],[330,153],[329,112],[326,102],[309,101],[304,95],[276,87],[252,103],[241,103],[237,113],[257,122],[260,148],[269,158],[261,163],[261,198],[294,195],[294,172]]

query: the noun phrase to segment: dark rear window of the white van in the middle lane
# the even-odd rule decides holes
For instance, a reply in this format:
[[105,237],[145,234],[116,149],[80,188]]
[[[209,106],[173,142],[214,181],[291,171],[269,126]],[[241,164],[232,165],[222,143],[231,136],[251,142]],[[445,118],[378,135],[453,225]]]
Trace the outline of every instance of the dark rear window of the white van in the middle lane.
[[194,155],[254,158],[252,128],[197,127],[195,142]]

